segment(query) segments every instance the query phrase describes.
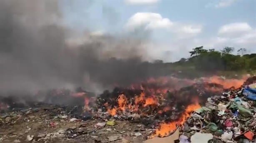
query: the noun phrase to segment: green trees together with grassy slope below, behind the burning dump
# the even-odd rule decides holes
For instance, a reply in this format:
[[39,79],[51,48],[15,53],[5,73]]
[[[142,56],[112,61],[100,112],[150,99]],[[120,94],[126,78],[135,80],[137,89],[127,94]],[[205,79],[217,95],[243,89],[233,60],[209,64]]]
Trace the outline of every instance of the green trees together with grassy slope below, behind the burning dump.
[[233,47],[225,47],[220,51],[215,49],[206,50],[201,47],[193,48],[189,52],[190,58],[181,58],[178,62],[156,63],[162,66],[161,70],[168,73],[178,73],[185,77],[200,77],[206,75],[241,75],[245,73],[255,74],[256,54],[246,54],[246,49],[241,48],[235,53]]

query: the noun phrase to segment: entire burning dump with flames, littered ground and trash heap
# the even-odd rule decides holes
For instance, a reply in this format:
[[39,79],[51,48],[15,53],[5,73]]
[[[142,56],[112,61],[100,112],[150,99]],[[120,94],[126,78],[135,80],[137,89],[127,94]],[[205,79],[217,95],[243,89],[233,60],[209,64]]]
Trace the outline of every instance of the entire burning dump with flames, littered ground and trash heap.
[[[223,82],[225,80],[223,79]],[[3,143],[238,143],[255,141],[256,77],[241,87],[140,84],[96,96],[82,88],[0,99]],[[34,97],[34,96],[33,96]]]

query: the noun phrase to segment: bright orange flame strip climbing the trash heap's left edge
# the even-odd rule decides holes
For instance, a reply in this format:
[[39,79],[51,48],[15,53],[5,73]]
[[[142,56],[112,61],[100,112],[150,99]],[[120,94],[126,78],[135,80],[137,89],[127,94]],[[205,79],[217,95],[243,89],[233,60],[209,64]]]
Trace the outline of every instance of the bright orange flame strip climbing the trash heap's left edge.
[[201,108],[201,106],[196,103],[192,105],[188,105],[185,113],[179,118],[177,121],[173,121],[171,123],[161,123],[160,127],[156,130],[156,136],[164,137],[166,135],[169,135],[174,130],[176,130],[177,126],[183,125],[186,121],[186,119],[190,116],[190,113]]

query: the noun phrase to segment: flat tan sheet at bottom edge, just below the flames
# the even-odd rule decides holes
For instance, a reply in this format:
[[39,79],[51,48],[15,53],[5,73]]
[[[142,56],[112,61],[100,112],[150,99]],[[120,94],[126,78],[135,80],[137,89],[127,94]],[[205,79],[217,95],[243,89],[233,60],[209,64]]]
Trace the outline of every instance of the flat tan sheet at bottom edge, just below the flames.
[[179,129],[177,129],[172,135],[165,138],[151,138],[144,141],[143,143],[174,143],[175,140],[179,139]]

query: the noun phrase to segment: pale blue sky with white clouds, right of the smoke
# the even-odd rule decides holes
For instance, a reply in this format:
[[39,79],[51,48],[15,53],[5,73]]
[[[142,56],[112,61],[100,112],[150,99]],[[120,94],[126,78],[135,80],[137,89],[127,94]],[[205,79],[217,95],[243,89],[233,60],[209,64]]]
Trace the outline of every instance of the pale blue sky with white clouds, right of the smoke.
[[149,55],[188,58],[198,46],[256,52],[256,0],[62,0],[65,23],[96,35],[147,41]]

